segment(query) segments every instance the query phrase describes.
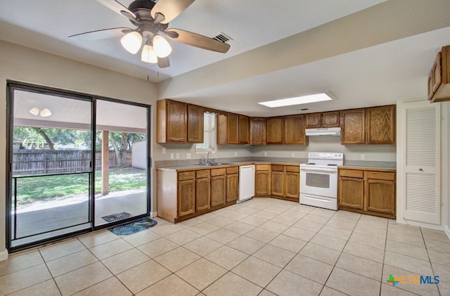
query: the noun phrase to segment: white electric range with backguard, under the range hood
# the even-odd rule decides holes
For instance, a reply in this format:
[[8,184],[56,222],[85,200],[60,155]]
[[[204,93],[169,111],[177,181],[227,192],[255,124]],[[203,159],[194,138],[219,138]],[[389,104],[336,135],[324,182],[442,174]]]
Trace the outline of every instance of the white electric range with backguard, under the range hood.
[[300,203],[338,210],[338,165],[344,154],[309,152],[308,163],[300,165]]

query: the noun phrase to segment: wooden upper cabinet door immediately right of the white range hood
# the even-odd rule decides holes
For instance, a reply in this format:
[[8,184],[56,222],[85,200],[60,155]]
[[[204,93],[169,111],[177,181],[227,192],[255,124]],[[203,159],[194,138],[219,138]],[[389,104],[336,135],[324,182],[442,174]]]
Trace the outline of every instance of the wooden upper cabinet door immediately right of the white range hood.
[[366,143],[366,109],[341,111],[340,143],[342,145]]

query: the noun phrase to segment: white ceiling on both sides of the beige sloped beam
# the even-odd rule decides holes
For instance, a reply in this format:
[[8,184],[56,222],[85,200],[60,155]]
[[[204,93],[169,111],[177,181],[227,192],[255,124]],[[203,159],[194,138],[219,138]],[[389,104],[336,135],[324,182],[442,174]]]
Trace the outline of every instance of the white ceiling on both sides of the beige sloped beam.
[[[388,2],[393,1],[408,4],[406,0]],[[196,0],[178,18],[172,20],[169,27],[207,37],[223,32],[233,39],[229,42],[231,49],[225,54],[215,53],[169,41],[173,48],[171,66],[165,69],[143,63],[139,55],[133,56],[124,51],[119,39],[69,39],[68,36],[81,32],[109,27],[132,27],[127,18],[94,0],[1,0],[0,39],[140,79],[167,83],[170,88],[170,82],[174,78],[179,81],[188,77],[191,72],[202,68],[207,70],[219,61],[232,60],[248,51],[352,13],[364,13],[366,8],[383,5],[384,2]],[[427,2],[439,2],[445,9],[449,8],[446,0]],[[121,3],[128,6],[131,0],[122,0]],[[450,15],[450,11],[447,15]],[[424,22],[423,26],[421,34],[390,41],[379,41],[374,37],[372,46],[364,49],[311,60],[309,63],[286,64],[278,70],[266,71],[261,75],[247,75],[242,79],[210,84],[200,89],[177,89],[171,97],[252,116],[358,108],[395,103],[398,99],[424,97],[426,79],[435,54],[441,46],[450,44],[450,22],[438,26]],[[383,24],[380,23],[380,27]],[[388,29],[395,30],[394,27]],[[371,34],[372,32],[367,32],[368,39]],[[321,91],[331,92],[338,100],[276,109],[257,105],[258,101]],[[300,108],[309,110],[301,111]]]

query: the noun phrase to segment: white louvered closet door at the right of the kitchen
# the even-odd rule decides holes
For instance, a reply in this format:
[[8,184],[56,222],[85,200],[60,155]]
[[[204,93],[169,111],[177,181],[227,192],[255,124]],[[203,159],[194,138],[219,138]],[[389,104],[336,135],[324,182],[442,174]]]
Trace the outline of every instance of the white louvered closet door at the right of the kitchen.
[[440,224],[440,105],[407,105],[404,218]]

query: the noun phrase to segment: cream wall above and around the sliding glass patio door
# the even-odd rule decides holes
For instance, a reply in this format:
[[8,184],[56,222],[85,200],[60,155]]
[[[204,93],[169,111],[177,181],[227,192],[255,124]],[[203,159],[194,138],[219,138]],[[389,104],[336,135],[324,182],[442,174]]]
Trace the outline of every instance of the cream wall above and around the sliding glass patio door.
[[[142,79],[0,41],[0,259],[6,253],[6,79],[155,105],[156,86]],[[155,134],[155,108],[152,108]],[[156,182],[154,181],[153,188]],[[153,200],[156,193],[153,191]]]

